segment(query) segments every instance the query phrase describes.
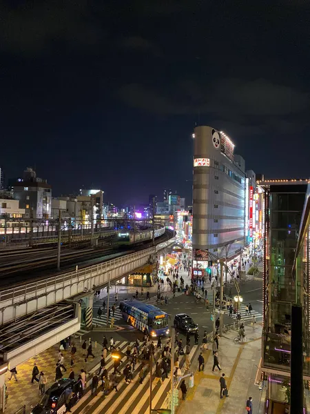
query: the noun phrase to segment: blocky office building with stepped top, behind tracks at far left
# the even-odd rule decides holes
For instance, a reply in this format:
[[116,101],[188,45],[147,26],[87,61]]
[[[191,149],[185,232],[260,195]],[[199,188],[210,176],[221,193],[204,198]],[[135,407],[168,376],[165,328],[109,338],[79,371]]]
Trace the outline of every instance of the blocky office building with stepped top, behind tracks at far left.
[[52,187],[45,179],[37,177],[28,167],[23,179],[13,186],[14,199],[19,200],[19,208],[25,209],[25,218],[48,219],[52,211]]

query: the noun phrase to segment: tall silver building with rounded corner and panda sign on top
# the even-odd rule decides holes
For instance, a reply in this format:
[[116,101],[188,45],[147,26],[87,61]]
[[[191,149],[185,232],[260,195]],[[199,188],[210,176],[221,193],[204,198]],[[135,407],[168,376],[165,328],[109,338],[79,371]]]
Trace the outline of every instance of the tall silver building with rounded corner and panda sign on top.
[[245,161],[224,132],[197,126],[193,138],[193,259],[225,246],[232,257],[245,245]]

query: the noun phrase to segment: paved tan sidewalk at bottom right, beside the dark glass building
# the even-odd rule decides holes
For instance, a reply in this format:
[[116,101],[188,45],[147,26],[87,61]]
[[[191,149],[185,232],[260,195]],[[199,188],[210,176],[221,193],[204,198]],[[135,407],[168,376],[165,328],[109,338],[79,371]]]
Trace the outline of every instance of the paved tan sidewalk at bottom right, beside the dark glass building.
[[[218,359],[222,371],[212,373],[212,351],[204,351],[205,371],[194,375],[194,388],[189,388],[187,400],[180,404],[177,414],[242,414],[247,398],[253,397],[253,413],[263,413],[265,395],[254,384],[260,362],[262,327],[245,327],[248,342],[235,345],[236,331],[229,331],[220,338]],[[211,344],[209,344],[211,348]],[[220,399],[219,379],[225,373],[229,397]]]

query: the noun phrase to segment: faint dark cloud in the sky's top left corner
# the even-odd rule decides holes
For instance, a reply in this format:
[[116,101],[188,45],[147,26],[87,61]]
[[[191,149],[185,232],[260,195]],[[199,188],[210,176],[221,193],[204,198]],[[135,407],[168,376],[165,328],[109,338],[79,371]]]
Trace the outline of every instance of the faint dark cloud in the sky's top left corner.
[[17,7],[1,3],[0,48],[14,53],[34,54],[46,51],[51,42],[61,46],[96,44],[101,28],[91,22],[91,8],[86,0],[34,1]]

